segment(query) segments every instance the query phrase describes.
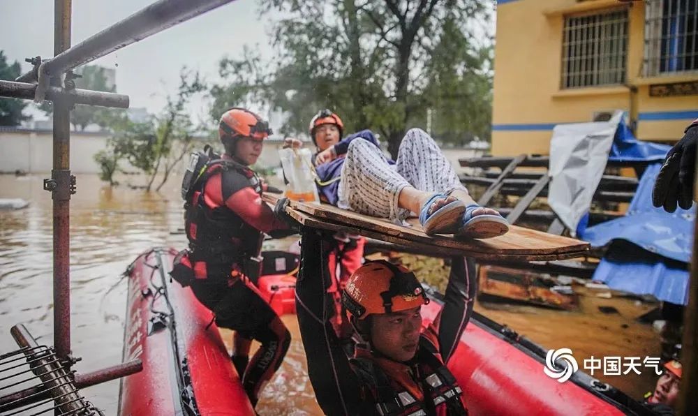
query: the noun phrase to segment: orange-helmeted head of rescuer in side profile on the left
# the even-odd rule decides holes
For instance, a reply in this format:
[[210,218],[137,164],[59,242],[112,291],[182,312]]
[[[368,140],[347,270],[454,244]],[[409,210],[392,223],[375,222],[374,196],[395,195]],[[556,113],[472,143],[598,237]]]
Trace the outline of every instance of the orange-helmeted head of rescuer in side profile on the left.
[[232,107],[223,113],[218,123],[218,137],[225,154],[238,163],[249,166],[262,154],[262,144],[272,129],[262,117],[244,108]]

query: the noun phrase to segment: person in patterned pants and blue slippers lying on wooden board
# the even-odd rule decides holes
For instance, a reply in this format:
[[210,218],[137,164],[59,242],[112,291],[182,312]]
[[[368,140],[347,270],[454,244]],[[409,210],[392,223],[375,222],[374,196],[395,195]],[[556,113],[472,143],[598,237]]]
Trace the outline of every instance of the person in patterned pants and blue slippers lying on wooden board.
[[[321,110],[309,131],[317,154],[313,163],[321,198],[359,214],[395,223],[414,212],[427,235],[491,238],[505,234],[509,223],[491,208],[480,207],[461,184],[438,144],[423,130],[410,129],[391,161],[370,130],[342,138],[337,114]],[[286,138],[285,147],[302,142]]]

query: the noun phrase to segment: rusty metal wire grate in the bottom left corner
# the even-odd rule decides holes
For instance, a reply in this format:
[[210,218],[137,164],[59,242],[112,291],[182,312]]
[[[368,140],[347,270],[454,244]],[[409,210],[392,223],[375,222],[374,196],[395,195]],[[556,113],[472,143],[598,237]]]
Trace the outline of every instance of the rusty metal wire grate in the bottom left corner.
[[0,415],[100,415],[77,391],[52,348],[25,347],[0,355]]

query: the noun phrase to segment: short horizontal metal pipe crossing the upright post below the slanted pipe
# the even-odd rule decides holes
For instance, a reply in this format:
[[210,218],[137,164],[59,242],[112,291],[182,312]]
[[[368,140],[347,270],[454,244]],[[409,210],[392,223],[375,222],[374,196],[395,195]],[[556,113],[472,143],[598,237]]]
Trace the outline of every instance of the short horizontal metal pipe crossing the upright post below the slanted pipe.
[[[7,98],[34,99],[36,84],[0,80],[0,96]],[[89,89],[65,90],[49,87],[46,91],[48,101],[64,99],[70,103],[100,105],[101,107],[128,108],[128,96],[112,92],[91,91]]]

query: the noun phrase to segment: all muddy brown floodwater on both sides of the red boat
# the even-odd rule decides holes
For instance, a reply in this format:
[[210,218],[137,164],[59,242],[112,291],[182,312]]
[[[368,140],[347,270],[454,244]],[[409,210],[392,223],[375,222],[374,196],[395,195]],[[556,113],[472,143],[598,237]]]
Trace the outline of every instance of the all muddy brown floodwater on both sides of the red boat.
[[[0,198],[22,198],[29,207],[0,210],[0,353],[15,350],[9,329],[24,323],[39,343],[52,344],[52,214],[50,193],[43,191],[49,175],[0,175]],[[139,177],[123,177],[138,182]],[[174,179],[161,193],[105,186],[96,175],[80,174],[77,195],[70,203],[70,272],[73,355],[82,357],[76,369],[94,371],[121,362],[126,309],[126,281],[120,278],[131,260],[150,246],[184,247],[179,184]],[[406,262],[415,262],[406,258]],[[425,273],[429,267],[424,267]],[[438,267],[436,267],[438,269]],[[434,276],[438,270],[434,269]],[[636,318],[655,304],[629,297],[598,297],[600,292],[575,287],[580,293],[574,311],[536,306],[477,303],[487,317],[525,334],[546,348],[572,348],[578,362],[594,357],[658,357],[659,336]],[[602,290],[605,295],[607,290]],[[601,313],[612,306],[618,313]],[[313,403],[305,373],[305,357],[297,324],[284,318],[293,341],[281,370],[262,393],[261,415],[320,414]],[[223,334],[225,341],[230,335]],[[597,373],[597,376],[598,373]],[[641,397],[653,387],[654,376],[600,376],[601,380]],[[85,389],[83,393],[105,414],[117,413],[119,382]]]

